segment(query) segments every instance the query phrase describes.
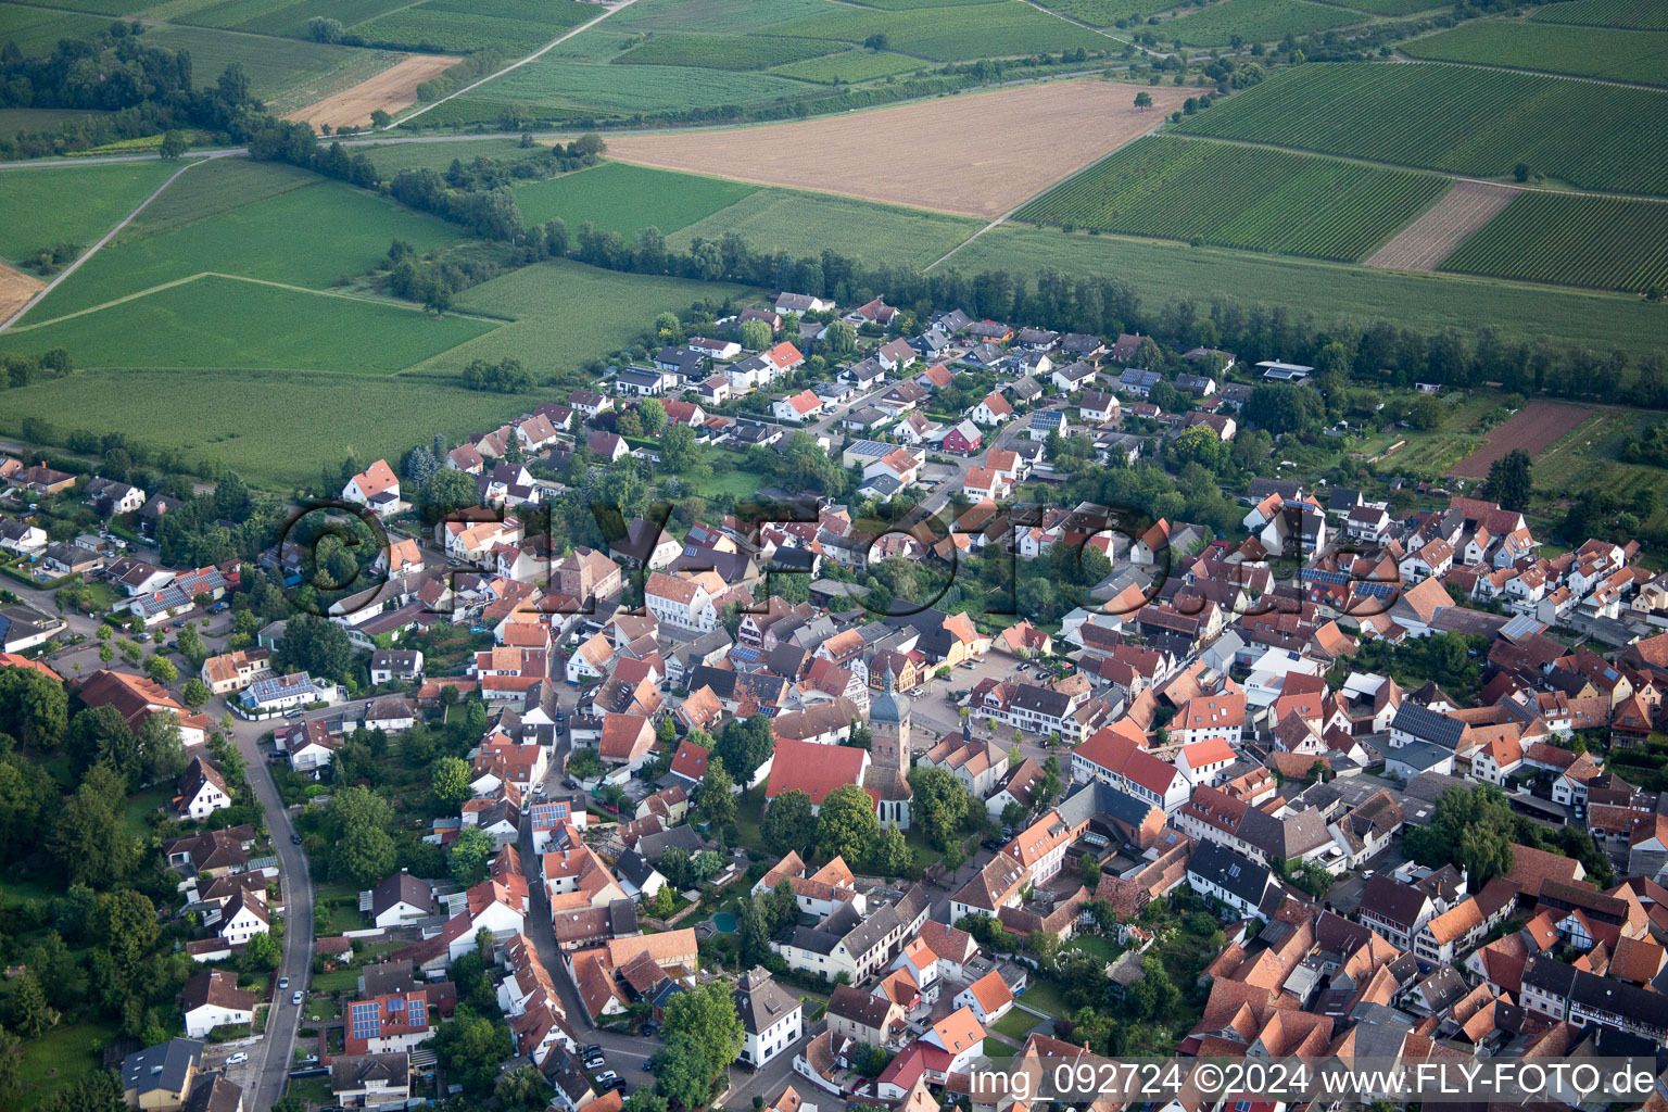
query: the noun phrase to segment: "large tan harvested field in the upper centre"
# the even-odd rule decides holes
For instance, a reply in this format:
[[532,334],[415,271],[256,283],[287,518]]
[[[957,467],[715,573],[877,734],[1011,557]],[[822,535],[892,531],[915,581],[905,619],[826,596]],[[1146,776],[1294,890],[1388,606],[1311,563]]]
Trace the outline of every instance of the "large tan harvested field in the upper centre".
[[[1134,97],[1148,92],[1151,108]],[[999,217],[1158,127],[1186,88],[1046,82],[824,120],[610,135],[609,157],[759,185]]]

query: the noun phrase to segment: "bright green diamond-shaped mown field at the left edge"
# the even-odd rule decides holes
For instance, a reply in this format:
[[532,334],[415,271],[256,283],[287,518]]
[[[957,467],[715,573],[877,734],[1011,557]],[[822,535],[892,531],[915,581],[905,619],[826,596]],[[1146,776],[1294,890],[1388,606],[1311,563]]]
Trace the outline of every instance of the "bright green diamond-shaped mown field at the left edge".
[[[462,315],[437,320],[419,312],[415,305],[207,277],[80,317],[13,325],[5,335],[5,348],[38,353],[63,347],[77,367],[87,368],[183,367],[217,372],[215,377],[195,383],[198,400],[185,403],[173,417],[150,413],[150,433],[155,435],[173,423],[183,432],[183,425],[192,423],[197,405],[220,403],[210,402],[207,395],[224,395],[227,405],[235,402],[252,422],[260,420],[262,413],[272,408],[272,400],[254,390],[242,375],[244,368],[389,375],[472,340],[492,327],[492,322]],[[359,385],[339,383],[335,388],[345,393],[330,398],[330,392],[322,390],[315,398],[319,408],[359,405]],[[65,405],[57,415],[50,407],[30,407],[27,397],[32,390],[35,387],[7,392],[7,407],[13,408],[17,417],[35,412],[55,422],[67,422],[83,412],[83,402],[90,402],[88,395],[98,387],[85,382],[80,372],[43,383],[43,392],[53,398],[52,405]],[[113,405],[132,405],[135,400],[137,395],[128,388],[115,390],[110,397]],[[282,412],[307,413],[309,418],[314,413],[312,408]],[[132,430],[127,422],[112,427]]]

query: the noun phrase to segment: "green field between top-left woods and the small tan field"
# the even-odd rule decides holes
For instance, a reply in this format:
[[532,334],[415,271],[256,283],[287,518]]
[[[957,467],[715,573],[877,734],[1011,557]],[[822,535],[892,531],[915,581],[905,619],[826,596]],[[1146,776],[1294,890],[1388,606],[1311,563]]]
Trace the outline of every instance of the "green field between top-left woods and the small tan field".
[[[225,67],[240,62],[249,73],[249,88],[255,97],[270,98],[280,107],[287,103],[290,108],[299,108],[302,103],[290,103],[284,93],[327,80],[340,72],[350,78],[360,75],[355,80],[364,80],[389,65],[387,55],[375,50],[280,40],[210,27],[152,27],[145,32],[145,42],[152,47],[188,50],[192,78],[200,88],[212,87]],[[347,83],[355,82],[349,80]]]

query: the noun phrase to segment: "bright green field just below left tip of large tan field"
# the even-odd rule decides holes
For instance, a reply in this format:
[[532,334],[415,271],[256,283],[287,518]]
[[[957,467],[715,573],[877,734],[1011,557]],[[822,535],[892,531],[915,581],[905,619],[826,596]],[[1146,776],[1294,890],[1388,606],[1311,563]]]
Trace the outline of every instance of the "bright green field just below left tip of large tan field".
[[522,185],[515,190],[515,202],[529,223],[560,217],[574,233],[589,222],[604,232],[619,232],[629,242],[639,228],[656,227],[666,233],[686,228],[756,188],[724,178],[605,162],[592,170]]

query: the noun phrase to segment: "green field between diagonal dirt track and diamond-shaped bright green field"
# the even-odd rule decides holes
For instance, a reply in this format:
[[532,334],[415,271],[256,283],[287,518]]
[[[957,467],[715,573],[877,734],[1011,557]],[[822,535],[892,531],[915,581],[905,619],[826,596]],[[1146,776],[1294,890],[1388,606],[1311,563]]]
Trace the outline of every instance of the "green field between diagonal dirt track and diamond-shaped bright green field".
[[[180,182],[187,178],[190,173]],[[157,222],[128,227],[93,255],[28,320],[40,323],[208,272],[322,290],[370,270],[394,238],[425,252],[457,232],[435,217],[317,177],[195,223],[177,225],[163,210]]]

